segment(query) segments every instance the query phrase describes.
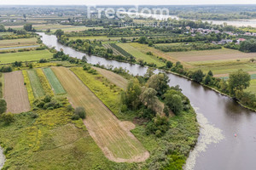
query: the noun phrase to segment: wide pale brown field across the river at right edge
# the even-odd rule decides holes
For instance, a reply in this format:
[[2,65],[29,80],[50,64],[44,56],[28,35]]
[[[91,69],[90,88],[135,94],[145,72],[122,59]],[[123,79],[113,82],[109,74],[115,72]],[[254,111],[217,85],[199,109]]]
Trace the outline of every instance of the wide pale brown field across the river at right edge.
[[227,60],[227,59],[251,59],[256,57],[253,53],[242,53],[235,49],[212,49],[202,51],[189,51],[189,52],[170,52],[172,57],[182,60],[184,62],[197,62],[197,61],[214,61],[214,60]]

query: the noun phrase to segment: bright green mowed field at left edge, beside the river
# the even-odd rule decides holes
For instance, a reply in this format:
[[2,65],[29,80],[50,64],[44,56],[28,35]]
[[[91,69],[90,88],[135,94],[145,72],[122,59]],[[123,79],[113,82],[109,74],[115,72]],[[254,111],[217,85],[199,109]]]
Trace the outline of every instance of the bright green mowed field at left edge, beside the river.
[[52,54],[48,50],[35,50],[17,53],[0,54],[0,64],[14,63],[15,61],[34,61],[50,59]]

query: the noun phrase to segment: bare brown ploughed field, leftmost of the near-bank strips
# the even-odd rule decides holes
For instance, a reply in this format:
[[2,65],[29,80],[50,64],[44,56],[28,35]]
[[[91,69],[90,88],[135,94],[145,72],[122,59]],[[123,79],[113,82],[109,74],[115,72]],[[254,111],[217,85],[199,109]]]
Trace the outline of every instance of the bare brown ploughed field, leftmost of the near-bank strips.
[[7,102],[7,112],[30,111],[26,86],[21,71],[4,73],[3,98]]

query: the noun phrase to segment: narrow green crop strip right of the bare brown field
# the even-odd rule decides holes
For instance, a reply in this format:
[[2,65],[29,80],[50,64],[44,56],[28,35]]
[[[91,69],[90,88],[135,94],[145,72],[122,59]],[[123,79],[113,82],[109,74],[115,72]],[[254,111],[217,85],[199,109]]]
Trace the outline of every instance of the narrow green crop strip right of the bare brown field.
[[35,98],[39,98],[44,96],[44,88],[42,87],[42,84],[38,78],[37,72],[35,70],[28,70],[28,77],[31,82],[33,94]]

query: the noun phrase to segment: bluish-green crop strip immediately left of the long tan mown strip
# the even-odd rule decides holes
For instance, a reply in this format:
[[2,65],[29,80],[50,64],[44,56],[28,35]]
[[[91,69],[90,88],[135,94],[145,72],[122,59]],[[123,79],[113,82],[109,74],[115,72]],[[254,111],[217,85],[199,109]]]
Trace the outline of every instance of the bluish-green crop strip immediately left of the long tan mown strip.
[[44,68],[44,74],[47,77],[51,88],[54,89],[55,94],[66,94],[61,82],[55,77],[55,73],[50,68]]

